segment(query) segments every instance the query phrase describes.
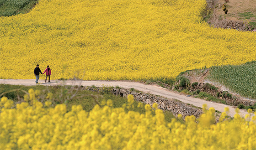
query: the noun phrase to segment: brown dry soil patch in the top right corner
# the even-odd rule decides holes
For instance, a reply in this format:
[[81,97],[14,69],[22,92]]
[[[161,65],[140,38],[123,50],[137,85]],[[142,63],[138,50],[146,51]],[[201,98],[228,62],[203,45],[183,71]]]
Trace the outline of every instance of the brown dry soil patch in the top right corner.
[[[256,30],[256,0],[207,0],[210,26],[240,31]],[[228,13],[225,14],[222,6]]]

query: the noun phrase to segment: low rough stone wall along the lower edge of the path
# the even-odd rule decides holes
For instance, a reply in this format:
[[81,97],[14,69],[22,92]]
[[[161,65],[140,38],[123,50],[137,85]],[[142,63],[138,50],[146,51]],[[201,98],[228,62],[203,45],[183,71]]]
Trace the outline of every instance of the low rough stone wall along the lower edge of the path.
[[[86,90],[94,91],[94,92],[100,92],[101,88],[85,88]],[[152,106],[153,103],[158,104],[158,108],[163,111],[171,111],[172,114],[177,116],[178,114],[181,114],[183,117],[194,115],[196,118],[198,118],[202,113],[202,109],[198,109],[196,107],[193,107],[192,105],[189,105],[187,103],[182,103],[176,99],[167,99],[167,98],[161,98],[159,96],[150,95],[147,93],[141,93],[141,92],[131,92],[128,89],[124,88],[112,88],[109,89],[109,92],[111,92],[114,95],[119,95],[122,97],[127,97],[129,94],[132,94],[134,97],[134,100],[149,104]]]

